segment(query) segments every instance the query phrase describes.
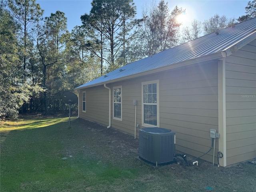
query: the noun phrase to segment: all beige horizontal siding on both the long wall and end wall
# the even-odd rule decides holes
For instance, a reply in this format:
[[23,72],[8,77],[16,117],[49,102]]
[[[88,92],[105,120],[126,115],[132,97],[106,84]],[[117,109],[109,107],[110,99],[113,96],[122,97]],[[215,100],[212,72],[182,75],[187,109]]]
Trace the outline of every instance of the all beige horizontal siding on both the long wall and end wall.
[[[192,156],[208,151],[212,143],[209,130],[218,131],[217,62],[107,84],[112,91],[114,86],[122,86],[122,121],[113,119],[111,109],[113,128],[134,134],[134,99],[138,101],[136,123],[142,124],[141,83],[151,80],[160,83],[160,127],[176,132],[176,149]],[[256,40],[226,58],[227,165],[256,157],[255,88]],[[85,90],[86,113],[82,112],[83,90],[80,90],[80,117],[108,125],[108,90],[103,86]],[[212,161],[212,152],[203,159]]]

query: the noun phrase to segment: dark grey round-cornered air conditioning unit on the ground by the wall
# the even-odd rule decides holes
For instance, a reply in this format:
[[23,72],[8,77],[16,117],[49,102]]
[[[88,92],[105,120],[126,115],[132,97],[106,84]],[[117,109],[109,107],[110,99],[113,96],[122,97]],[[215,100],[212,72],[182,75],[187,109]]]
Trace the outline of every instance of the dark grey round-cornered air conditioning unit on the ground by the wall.
[[174,161],[175,132],[159,127],[139,130],[139,157],[146,162],[168,164]]

